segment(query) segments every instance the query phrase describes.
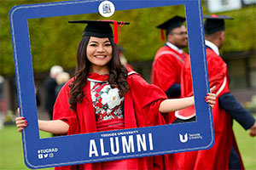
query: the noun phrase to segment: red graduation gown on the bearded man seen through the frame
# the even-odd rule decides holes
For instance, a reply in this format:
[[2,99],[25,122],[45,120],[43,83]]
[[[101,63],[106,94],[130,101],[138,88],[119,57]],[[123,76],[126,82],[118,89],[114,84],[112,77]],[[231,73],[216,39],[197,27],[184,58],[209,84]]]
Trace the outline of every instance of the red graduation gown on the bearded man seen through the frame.
[[[180,54],[169,46],[161,47],[154,56],[151,82],[164,92],[174,83],[180,84],[181,70],[187,55],[184,52]],[[168,123],[172,123],[176,119],[174,112],[165,117]]]

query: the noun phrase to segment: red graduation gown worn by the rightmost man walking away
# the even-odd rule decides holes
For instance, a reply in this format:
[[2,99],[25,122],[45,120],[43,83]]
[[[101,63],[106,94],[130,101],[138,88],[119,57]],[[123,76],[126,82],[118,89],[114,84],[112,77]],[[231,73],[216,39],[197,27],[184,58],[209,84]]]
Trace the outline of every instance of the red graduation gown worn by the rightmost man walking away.
[[[193,95],[189,58],[185,59],[182,77],[182,97]],[[211,48],[207,48],[207,66],[210,87],[216,86],[216,104],[212,109],[215,143],[209,150],[190,151],[177,154],[178,166],[181,169],[229,169],[230,150],[233,145],[240,156],[232,130],[230,116],[219,107],[218,97],[229,93],[227,65]],[[194,114],[195,110],[187,110]],[[187,114],[189,115],[189,114]],[[241,156],[240,156],[241,158]],[[241,169],[244,169],[241,161]]]

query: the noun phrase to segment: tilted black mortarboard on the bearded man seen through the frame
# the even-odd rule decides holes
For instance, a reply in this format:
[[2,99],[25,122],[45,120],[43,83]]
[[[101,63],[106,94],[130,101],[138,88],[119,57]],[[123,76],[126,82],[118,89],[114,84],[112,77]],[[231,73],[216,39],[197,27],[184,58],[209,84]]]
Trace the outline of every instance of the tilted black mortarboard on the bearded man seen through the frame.
[[160,24],[159,26],[156,26],[157,28],[161,29],[161,40],[164,41],[164,30],[166,30],[166,36],[169,34],[172,29],[183,26],[183,21],[186,19],[181,16],[174,16],[169,20],[166,20],[166,22]]

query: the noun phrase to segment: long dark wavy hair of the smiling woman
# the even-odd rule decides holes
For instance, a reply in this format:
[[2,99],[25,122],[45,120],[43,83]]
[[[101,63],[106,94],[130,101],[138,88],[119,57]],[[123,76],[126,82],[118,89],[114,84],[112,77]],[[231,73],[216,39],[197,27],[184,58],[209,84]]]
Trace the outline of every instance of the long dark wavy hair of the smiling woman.
[[[69,85],[70,97],[68,102],[70,104],[70,109],[73,111],[76,111],[77,103],[82,103],[85,96],[83,88],[87,82],[87,77],[90,71],[90,61],[86,56],[86,48],[89,40],[90,37],[83,37],[79,43],[79,48],[77,50],[77,68],[74,74],[74,80]],[[117,45],[113,43],[113,38],[109,38],[109,40],[113,48],[113,57],[108,62],[108,82],[111,88],[119,88],[119,96],[124,97],[126,92],[130,89],[126,82],[128,71],[120,62],[118,48]]]

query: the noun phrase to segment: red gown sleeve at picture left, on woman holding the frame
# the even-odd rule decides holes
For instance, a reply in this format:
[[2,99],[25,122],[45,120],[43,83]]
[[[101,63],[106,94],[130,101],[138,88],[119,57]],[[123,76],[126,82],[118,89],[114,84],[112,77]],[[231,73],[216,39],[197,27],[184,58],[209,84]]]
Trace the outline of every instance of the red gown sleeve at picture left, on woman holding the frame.
[[55,101],[54,105],[54,115],[53,120],[61,120],[67,122],[69,125],[68,135],[79,133],[79,121],[76,112],[69,109],[69,90],[68,87],[70,82],[67,82],[63,88],[61,88],[60,93]]

